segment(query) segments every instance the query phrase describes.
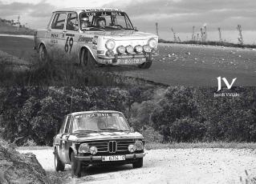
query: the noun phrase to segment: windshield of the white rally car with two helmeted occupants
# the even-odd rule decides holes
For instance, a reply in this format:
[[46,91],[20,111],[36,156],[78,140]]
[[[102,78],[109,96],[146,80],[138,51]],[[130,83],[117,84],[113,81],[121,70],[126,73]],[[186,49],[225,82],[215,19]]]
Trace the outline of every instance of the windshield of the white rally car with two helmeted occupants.
[[134,30],[127,14],[120,11],[91,11],[79,14],[80,30]]

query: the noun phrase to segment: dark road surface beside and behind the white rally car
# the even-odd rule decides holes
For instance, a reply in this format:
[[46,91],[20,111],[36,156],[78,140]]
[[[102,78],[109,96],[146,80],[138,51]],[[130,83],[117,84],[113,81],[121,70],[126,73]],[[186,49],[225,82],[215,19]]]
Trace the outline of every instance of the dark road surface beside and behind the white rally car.
[[[0,50],[18,58],[30,60],[35,54],[34,41],[28,38],[0,36]],[[173,86],[217,86],[217,77],[229,82],[237,78],[234,86],[256,86],[256,50],[221,46],[194,46],[160,44],[160,55],[152,67],[102,67],[136,78]]]

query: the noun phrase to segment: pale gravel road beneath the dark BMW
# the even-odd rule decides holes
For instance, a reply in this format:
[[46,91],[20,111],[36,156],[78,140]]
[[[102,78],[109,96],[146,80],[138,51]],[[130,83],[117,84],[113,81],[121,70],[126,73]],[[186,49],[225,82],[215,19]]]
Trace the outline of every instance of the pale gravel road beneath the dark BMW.
[[[22,153],[29,150],[22,150]],[[52,150],[31,150],[45,170],[54,170]],[[144,166],[89,167],[82,178],[67,183],[241,183],[245,170],[256,176],[256,150],[235,149],[171,149],[147,150]],[[70,170],[70,166],[66,167]]]

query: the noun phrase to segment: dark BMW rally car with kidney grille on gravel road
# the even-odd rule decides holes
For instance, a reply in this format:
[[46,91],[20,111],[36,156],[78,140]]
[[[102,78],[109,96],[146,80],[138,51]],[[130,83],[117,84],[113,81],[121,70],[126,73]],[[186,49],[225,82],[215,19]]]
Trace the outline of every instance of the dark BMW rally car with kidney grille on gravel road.
[[53,142],[55,170],[71,164],[72,176],[81,176],[83,166],[143,166],[144,138],[128,126],[118,111],[84,111],[68,114]]

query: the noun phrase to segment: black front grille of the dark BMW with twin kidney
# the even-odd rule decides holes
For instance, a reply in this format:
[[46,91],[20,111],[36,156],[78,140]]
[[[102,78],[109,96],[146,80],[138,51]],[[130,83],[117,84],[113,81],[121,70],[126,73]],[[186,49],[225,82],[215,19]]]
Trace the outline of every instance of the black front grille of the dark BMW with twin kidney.
[[98,152],[108,152],[108,153],[116,153],[120,151],[128,151],[128,146],[130,144],[134,144],[135,140],[130,139],[116,139],[109,141],[96,141],[96,142],[87,142],[89,146],[96,146]]

